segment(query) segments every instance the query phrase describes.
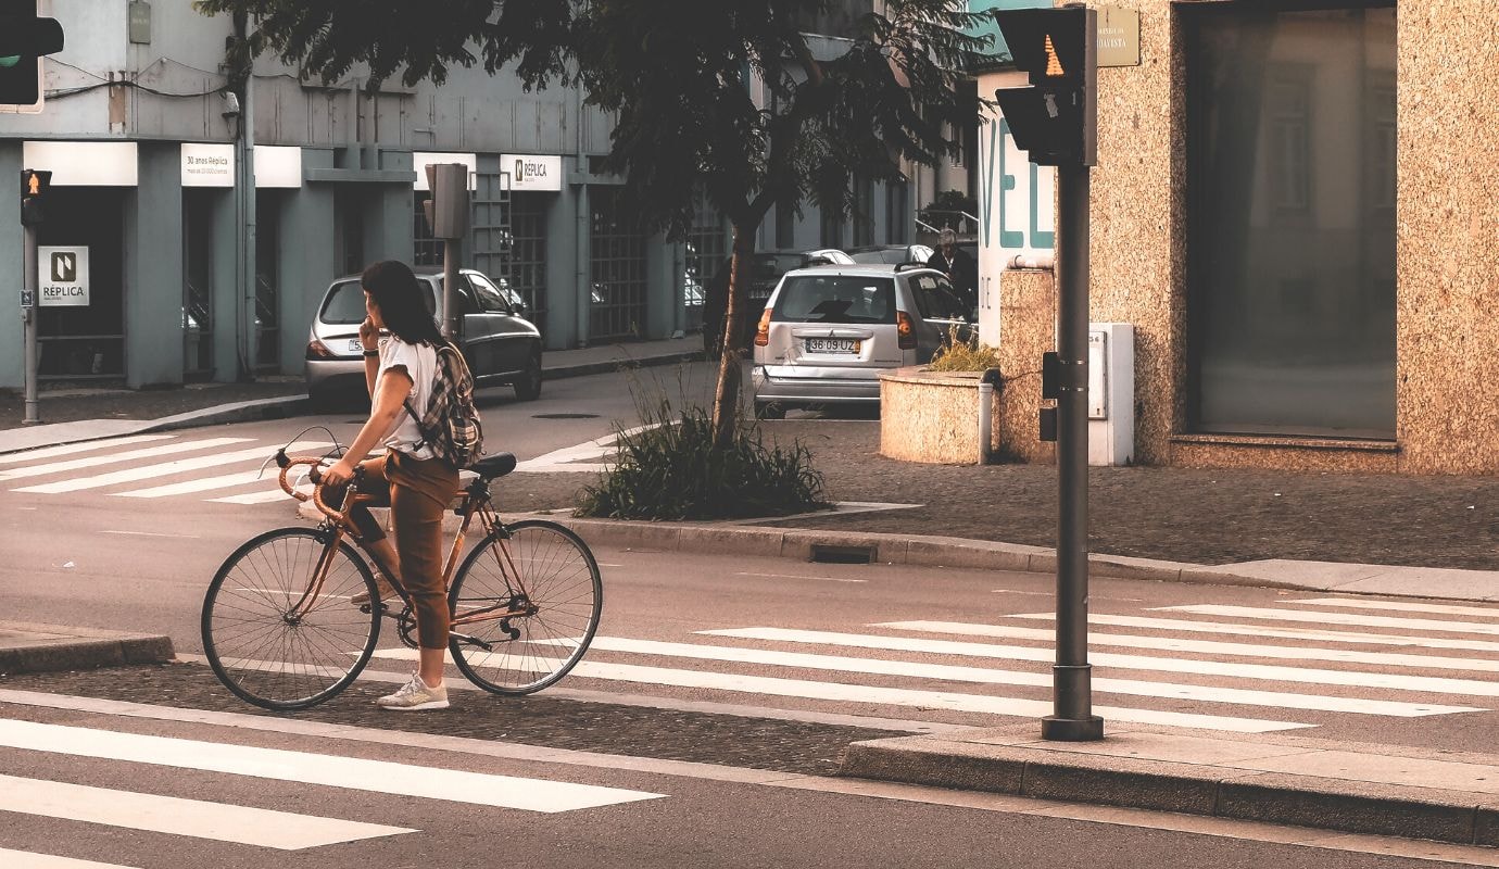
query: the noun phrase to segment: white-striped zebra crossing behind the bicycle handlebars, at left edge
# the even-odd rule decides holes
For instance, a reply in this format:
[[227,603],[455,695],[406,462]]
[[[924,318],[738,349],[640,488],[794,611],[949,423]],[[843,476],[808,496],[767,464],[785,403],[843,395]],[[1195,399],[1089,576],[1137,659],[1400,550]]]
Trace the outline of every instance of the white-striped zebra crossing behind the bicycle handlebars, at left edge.
[[0,455],[0,488],[25,494],[97,491],[109,497],[192,497],[253,505],[286,493],[267,458],[327,452],[328,440],[133,434]]

